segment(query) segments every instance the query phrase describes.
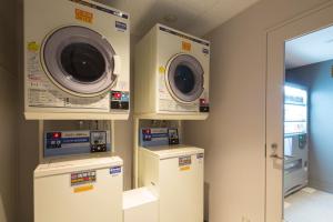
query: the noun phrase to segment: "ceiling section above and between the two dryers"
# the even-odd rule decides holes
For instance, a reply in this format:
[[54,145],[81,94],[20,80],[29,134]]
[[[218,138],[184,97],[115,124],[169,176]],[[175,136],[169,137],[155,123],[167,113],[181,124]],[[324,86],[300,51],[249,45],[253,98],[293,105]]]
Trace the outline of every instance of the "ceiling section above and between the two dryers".
[[202,37],[259,0],[95,0],[130,13],[131,32],[143,36],[157,22]]

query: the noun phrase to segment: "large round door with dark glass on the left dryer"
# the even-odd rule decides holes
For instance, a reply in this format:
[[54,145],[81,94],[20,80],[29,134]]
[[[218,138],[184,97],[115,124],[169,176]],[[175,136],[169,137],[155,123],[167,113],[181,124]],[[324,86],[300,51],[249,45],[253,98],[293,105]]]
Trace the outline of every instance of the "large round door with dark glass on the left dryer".
[[43,44],[43,64],[62,90],[79,97],[95,97],[115,82],[115,53],[109,41],[84,27],[64,27]]

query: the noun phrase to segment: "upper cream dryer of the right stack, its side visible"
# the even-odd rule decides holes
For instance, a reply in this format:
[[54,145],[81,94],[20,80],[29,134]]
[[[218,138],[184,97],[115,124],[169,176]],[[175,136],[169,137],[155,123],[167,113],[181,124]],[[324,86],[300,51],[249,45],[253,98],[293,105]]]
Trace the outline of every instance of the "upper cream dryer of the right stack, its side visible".
[[135,49],[135,113],[205,119],[209,77],[210,42],[157,24]]

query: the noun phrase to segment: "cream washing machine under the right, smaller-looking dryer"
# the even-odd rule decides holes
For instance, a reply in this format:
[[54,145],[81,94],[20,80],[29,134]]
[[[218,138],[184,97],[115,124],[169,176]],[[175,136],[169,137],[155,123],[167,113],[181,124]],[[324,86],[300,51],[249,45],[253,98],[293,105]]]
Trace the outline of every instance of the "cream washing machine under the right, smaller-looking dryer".
[[159,198],[159,222],[203,221],[203,153],[186,145],[139,149],[139,185]]

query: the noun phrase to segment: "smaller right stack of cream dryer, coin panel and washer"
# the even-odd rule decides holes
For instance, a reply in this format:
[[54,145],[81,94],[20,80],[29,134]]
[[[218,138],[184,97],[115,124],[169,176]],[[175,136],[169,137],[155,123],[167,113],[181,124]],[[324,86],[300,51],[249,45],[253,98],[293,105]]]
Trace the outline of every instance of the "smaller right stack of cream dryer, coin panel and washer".
[[[176,122],[206,119],[209,67],[209,41],[157,24],[135,49],[135,117]],[[202,222],[203,149],[181,144],[181,129],[144,123],[137,130],[137,180],[158,196],[159,221]]]

